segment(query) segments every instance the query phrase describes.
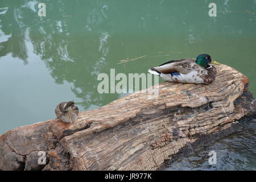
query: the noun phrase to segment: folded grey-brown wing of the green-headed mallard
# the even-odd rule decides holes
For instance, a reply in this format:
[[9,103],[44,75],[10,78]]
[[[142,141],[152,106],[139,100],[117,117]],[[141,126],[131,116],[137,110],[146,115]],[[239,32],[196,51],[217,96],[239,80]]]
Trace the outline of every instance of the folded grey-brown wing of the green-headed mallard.
[[151,69],[164,74],[169,74],[173,72],[187,74],[193,70],[192,67],[194,65],[195,67],[197,65],[195,63],[195,59],[180,59],[168,61],[164,64],[161,64],[159,67],[152,67]]

